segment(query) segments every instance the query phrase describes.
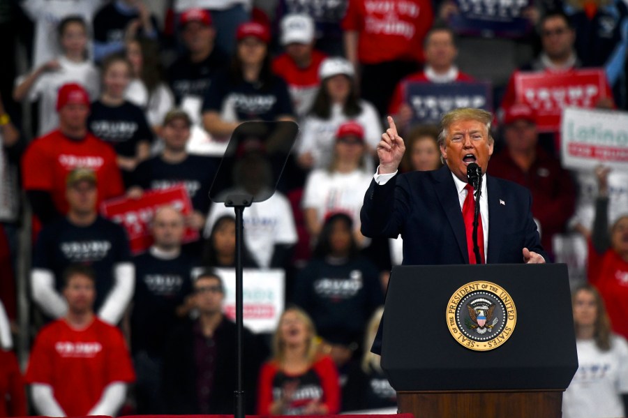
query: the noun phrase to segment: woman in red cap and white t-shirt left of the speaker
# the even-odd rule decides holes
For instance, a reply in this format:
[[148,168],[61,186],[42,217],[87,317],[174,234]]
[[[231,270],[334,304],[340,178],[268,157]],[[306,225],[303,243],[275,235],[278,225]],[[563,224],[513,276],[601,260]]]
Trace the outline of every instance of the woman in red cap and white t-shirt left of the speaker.
[[360,232],[360,209],[373,173],[366,170],[364,128],[354,121],[341,124],[334,135],[335,144],[329,167],[313,170],[306,179],[302,207],[312,239],[320,233],[329,214],[344,212],[353,221],[354,238],[367,244]]

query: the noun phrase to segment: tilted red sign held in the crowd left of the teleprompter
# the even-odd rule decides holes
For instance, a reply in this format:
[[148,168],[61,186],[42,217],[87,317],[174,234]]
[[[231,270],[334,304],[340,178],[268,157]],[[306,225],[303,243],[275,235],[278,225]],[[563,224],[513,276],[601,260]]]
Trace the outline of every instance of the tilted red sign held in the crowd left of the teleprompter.
[[[138,254],[146,251],[153,243],[150,222],[155,211],[166,205],[174,207],[184,215],[191,214],[193,210],[188,191],[185,186],[179,185],[160,191],[147,191],[139,199],[119,197],[107,200],[100,206],[100,212],[124,227],[131,251]],[[187,228],[184,242],[196,241],[198,237],[198,231]]]

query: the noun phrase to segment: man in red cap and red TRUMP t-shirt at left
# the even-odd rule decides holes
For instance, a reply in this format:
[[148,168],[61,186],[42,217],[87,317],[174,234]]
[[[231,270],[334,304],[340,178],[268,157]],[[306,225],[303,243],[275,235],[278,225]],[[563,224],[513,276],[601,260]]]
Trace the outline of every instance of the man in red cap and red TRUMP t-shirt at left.
[[34,140],[22,158],[23,186],[42,223],[67,213],[66,177],[75,168],[89,168],[107,179],[98,182],[99,202],[124,193],[114,150],[87,131],[87,91],[79,84],[64,84],[57,112],[59,129]]

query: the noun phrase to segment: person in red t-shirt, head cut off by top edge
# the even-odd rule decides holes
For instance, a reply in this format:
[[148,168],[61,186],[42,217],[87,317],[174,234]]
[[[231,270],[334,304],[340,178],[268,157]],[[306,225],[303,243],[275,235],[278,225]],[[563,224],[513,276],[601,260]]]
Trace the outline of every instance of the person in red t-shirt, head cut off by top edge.
[[392,91],[424,61],[432,26],[429,0],[349,0],[343,20],[345,56],[358,70],[362,98],[383,116]]

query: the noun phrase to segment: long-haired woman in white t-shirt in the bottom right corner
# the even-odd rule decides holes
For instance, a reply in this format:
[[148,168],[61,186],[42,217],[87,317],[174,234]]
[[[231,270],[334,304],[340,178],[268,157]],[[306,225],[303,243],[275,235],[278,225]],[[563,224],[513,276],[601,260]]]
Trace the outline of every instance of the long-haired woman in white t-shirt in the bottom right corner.
[[565,418],[625,417],[628,344],[611,332],[604,301],[591,285],[576,288],[574,308],[578,371],[562,396]]

